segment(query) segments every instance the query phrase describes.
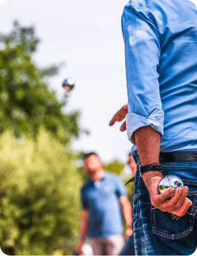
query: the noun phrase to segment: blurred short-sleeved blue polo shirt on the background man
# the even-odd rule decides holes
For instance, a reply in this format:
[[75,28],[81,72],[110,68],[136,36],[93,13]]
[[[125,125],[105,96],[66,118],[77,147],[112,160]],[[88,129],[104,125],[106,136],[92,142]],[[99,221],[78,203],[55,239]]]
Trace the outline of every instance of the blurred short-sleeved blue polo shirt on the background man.
[[88,237],[109,237],[122,234],[120,196],[126,196],[118,175],[104,172],[101,180],[88,179],[81,188],[83,209],[89,210]]

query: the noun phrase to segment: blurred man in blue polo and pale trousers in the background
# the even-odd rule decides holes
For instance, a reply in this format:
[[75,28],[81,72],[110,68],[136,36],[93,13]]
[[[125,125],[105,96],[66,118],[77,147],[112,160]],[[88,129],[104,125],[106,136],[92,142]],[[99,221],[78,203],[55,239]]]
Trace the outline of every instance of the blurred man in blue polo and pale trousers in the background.
[[[84,167],[89,179],[81,188],[81,220],[76,251],[88,237],[94,255],[118,255],[125,244],[122,235],[122,215],[127,225],[126,237],[133,234],[132,209],[124,183],[102,169],[103,163],[94,153],[84,154]],[[121,215],[122,212],[122,215]]]

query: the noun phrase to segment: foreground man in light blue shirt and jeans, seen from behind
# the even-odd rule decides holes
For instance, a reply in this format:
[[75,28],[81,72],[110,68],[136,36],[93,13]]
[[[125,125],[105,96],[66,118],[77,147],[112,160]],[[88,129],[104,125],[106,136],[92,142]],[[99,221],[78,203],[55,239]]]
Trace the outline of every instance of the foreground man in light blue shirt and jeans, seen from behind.
[[[186,0],[131,0],[122,33],[128,106],[110,125],[126,116],[121,130],[138,149],[136,254],[190,255],[197,246],[196,7]],[[169,174],[184,183],[171,199],[173,188],[158,191]]]

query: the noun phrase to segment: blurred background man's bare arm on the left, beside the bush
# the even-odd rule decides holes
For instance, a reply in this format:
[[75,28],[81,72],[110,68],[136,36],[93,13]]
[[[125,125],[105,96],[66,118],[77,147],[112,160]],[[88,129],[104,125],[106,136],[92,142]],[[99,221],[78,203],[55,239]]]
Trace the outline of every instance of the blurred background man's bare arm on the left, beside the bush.
[[89,211],[86,209],[81,210],[79,235],[78,235],[78,239],[77,239],[77,243],[76,243],[76,251],[80,255],[83,254],[81,249],[82,249],[82,246],[85,242],[86,235],[87,235],[88,218],[89,218]]

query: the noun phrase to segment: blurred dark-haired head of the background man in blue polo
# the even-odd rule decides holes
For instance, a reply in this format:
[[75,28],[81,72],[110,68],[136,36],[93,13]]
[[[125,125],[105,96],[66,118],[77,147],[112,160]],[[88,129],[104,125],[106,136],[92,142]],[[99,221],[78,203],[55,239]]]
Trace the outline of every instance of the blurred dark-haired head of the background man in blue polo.
[[84,167],[89,174],[93,174],[102,169],[103,162],[95,152],[84,154],[83,160]]

